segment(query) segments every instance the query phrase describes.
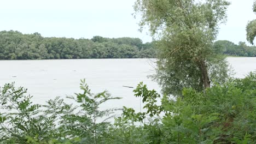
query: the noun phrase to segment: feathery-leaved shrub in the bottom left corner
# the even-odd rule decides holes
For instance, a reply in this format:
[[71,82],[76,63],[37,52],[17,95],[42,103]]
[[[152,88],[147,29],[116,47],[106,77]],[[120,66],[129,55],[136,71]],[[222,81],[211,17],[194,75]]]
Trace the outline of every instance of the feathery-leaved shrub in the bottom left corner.
[[54,133],[54,121],[39,115],[41,106],[32,104],[27,89],[15,88],[14,83],[4,85],[0,91],[1,129],[0,140],[5,143],[25,143],[26,136],[49,140]]

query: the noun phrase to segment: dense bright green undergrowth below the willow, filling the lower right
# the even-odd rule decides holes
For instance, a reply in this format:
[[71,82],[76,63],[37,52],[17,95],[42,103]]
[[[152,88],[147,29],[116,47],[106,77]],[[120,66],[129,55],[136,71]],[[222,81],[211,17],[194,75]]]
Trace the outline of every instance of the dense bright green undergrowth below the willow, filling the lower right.
[[[231,79],[223,85],[214,84],[205,92],[185,88],[183,97],[176,99],[164,95],[159,107],[150,106],[155,111],[161,110],[155,115],[164,112],[162,118],[156,117],[153,120],[155,123],[151,121],[144,123],[143,127],[135,127],[132,121],[140,119],[139,113],[125,111],[109,135],[127,140],[127,135],[120,132],[125,131],[129,136],[138,135],[145,143],[255,143],[255,76],[256,73],[250,73],[245,79]],[[158,95],[151,95],[142,85],[137,89],[146,92],[147,97],[142,91],[137,91],[142,98],[155,99]],[[141,119],[144,118],[143,115]],[[143,136],[138,134],[142,128]]]

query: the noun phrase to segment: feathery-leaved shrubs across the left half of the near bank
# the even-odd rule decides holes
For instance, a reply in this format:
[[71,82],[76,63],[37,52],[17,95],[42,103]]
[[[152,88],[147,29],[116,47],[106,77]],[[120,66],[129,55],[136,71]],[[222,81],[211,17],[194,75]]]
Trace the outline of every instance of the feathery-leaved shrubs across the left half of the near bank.
[[110,126],[107,120],[118,109],[100,110],[100,105],[110,97],[106,91],[92,94],[85,81],[81,81],[83,93],[71,97],[73,104],[67,104],[56,97],[47,101],[44,109],[32,104],[27,89],[15,89],[14,83],[4,85],[0,91],[2,143],[102,143],[102,135]]

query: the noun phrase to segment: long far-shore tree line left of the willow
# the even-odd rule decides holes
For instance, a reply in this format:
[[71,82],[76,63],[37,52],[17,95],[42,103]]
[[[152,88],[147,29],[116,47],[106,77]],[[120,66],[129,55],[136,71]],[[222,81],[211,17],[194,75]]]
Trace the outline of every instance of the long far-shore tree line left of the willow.
[[139,38],[45,38],[39,33],[0,32],[0,59],[154,58],[153,43]]

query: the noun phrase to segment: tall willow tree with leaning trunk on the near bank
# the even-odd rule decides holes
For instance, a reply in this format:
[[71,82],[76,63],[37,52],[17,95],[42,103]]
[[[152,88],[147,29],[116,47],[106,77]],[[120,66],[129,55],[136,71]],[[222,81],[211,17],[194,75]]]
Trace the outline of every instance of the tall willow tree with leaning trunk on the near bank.
[[226,21],[225,0],[137,0],[133,6],[141,30],[158,41],[158,68],[154,79],[164,93],[181,95],[184,87],[198,91],[223,82],[228,64],[213,48],[218,27]]

